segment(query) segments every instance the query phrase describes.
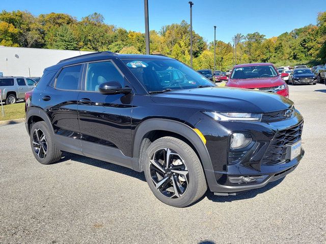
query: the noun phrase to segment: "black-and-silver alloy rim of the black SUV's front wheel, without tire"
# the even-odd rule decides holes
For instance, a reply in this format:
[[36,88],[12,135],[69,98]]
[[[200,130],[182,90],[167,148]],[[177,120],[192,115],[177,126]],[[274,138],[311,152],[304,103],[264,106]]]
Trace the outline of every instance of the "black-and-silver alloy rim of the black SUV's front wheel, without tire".
[[155,151],[149,170],[155,188],[168,198],[180,198],[188,189],[187,166],[181,156],[170,148]]

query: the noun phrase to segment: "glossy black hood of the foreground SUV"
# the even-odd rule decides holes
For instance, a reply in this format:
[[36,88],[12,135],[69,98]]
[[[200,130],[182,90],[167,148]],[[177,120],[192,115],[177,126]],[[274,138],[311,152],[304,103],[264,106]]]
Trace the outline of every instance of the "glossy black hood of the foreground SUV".
[[283,96],[257,90],[206,87],[151,95],[153,102],[197,107],[207,111],[266,113],[287,109],[293,102]]

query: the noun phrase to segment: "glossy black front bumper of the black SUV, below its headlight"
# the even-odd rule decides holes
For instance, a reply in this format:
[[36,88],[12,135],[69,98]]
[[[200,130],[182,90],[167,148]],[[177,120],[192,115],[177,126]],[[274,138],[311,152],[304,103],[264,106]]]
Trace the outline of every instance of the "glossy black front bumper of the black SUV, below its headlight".
[[[276,135],[283,135],[284,131],[298,127],[302,130],[302,123],[303,117],[297,110],[291,118],[272,123],[218,123],[213,119],[203,119],[196,126],[201,132],[204,128],[211,128],[203,133],[207,140],[206,148],[212,164],[212,168],[204,168],[210,191],[217,195],[234,195],[236,192],[264,187],[268,182],[292,172],[304,156],[303,148],[301,148],[300,155],[291,161],[283,158],[274,161],[274,158],[266,156],[267,152],[270,153],[267,149],[270,149],[275,142]],[[250,134],[255,144],[249,148],[248,153],[241,156],[240,161],[230,163],[230,135],[235,132]],[[296,132],[293,132],[294,135]],[[293,143],[298,139],[300,136],[296,137]],[[246,181],[247,179],[249,180]]]

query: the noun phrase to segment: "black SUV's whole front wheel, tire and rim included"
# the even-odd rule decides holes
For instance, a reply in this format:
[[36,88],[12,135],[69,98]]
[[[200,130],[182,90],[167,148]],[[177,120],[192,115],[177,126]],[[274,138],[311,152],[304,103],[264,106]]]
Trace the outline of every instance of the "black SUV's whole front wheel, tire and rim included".
[[206,192],[201,162],[184,141],[174,137],[159,138],[148,147],[144,158],[148,186],[160,201],[185,207]]

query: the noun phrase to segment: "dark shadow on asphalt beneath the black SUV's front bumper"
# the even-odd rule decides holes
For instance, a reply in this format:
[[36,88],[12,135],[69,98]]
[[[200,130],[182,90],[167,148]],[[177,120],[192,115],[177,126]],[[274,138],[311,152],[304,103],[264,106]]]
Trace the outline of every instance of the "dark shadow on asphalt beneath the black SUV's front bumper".
[[[249,199],[249,198],[254,198],[256,197],[258,194],[264,193],[274,187],[276,187],[277,185],[279,185],[283,179],[280,178],[276,181],[273,182],[269,182],[266,186],[262,187],[262,188],[257,188],[257,189],[253,189],[253,190],[249,190],[249,191],[244,191],[242,193],[238,193],[235,196],[216,196],[214,195],[214,193],[207,191],[206,192],[206,197],[213,201],[213,202],[233,202],[233,201],[238,201],[238,200],[244,200],[244,199]],[[205,195],[204,195],[205,197]]]

